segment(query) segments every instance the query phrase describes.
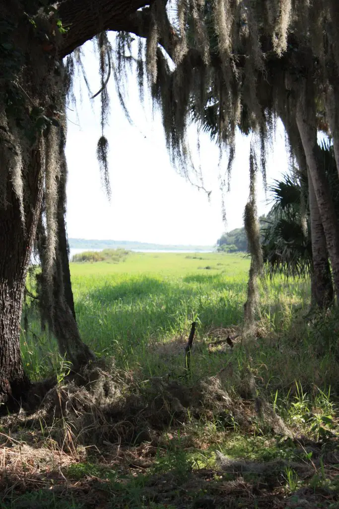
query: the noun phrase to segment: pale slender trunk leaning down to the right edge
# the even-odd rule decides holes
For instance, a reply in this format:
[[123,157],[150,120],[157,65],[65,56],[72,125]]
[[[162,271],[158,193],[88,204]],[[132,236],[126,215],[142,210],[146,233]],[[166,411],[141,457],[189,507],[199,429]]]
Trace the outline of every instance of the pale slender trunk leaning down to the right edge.
[[296,122],[305,152],[310,181],[317,197],[318,208],[326,237],[326,245],[333,272],[335,293],[339,298],[339,228],[326,176],[318,164],[315,105],[306,100],[306,83],[297,102]]

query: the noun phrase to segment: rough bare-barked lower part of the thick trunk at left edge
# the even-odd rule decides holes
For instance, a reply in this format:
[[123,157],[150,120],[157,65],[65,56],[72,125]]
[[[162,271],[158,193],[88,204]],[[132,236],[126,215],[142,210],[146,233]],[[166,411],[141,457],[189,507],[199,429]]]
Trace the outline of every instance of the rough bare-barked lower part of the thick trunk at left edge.
[[12,182],[7,180],[7,206],[0,215],[0,403],[16,407],[29,387],[20,353],[20,322],[27,269],[42,202],[41,154],[27,168],[32,207],[20,214]]

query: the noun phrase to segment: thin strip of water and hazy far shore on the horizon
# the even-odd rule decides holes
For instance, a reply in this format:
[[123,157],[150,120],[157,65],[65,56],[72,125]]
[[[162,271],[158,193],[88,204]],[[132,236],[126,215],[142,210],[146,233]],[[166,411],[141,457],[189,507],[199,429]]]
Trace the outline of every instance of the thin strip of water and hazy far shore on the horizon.
[[69,246],[73,249],[106,249],[122,248],[134,251],[179,251],[179,252],[211,252],[214,246],[201,245],[182,245],[182,244],[152,244],[149,242],[137,242],[129,240],[87,240],[87,239],[69,239]]

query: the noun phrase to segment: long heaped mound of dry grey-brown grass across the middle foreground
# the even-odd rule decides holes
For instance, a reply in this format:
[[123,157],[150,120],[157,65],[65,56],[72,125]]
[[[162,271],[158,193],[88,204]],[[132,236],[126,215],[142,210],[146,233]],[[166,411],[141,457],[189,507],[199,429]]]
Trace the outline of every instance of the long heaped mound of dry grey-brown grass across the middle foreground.
[[[248,430],[264,418],[275,433],[290,435],[267,403],[258,404],[255,393],[250,370],[233,373],[228,366],[215,376],[179,383],[167,377],[140,380],[116,370],[113,362],[98,361],[50,388],[35,413],[22,412],[16,419],[21,427],[43,429],[61,450],[75,456],[79,446],[156,443],[164,430],[192,418],[208,421],[218,416],[227,426],[232,416]],[[3,425],[12,424],[13,417],[3,419]]]

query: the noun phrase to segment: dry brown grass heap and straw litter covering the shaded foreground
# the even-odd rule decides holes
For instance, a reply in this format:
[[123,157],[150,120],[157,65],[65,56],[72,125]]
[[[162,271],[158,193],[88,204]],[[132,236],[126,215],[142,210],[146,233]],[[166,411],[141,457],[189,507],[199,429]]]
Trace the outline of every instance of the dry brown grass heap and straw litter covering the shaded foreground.
[[[27,490],[48,493],[52,489],[56,500],[74,497],[86,507],[105,506],[108,499],[116,507],[141,507],[141,500],[176,507],[179,483],[183,489],[180,500],[183,497],[189,506],[195,503],[189,495],[193,489],[202,493],[199,503],[211,498],[217,506],[226,495],[246,503],[259,500],[260,507],[267,509],[273,500],[284,503],[290,494],[284,480],[289,462],[284,459],[258,463],[220,453],[219,466],[198,470],[192,469],[189,460],[195,448],[214,456],[212,451],[223,444],[227,434],[232,440],[232,423],[248,434],[261,430],[299,443],[271,405],[256,396],[257,382],[256,371],[249,366],[237,369],[235,360],[201,380],[143,380],[117,370],[113,359],[90,363],[81,373],[48,389],[49,381],[35,413],[27,410],[1,419],[0,425],[9,430],[0,435],[5,498]],[[213,422],[222,425],[223,432],[219,428],[211,432]],[[313,463],[291,464],[300,483],[320,471],[321,449],[306,444],[304,448],[313,451]],[[329,478],[334,475],[335,459],[326,457],[324,471]],[[84,472],[81,478],[78,464],[79,472]],[[117,471],[123,478],[112,481]],[[133,479],[138,476],[142,482],[131,501],[131,490],[136,489]],[[268,491],[261,492],[260,483]],[[308,500],[310,490],[303,496]],[[331,501],[333,496],[331,492]],[[318,503],[319,497],[315,500]]]

